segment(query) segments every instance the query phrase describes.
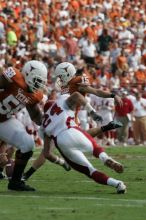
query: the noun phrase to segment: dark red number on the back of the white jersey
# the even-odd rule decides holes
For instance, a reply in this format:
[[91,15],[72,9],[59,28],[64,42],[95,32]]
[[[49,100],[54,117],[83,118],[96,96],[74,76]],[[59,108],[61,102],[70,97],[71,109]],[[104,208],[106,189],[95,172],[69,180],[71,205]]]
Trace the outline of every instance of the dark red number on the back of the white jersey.
[[[54,104],[50,110],[50,115],[53,116],[53,115],[59,115],[61,114],[61,112],[63,112],[63,110],[57,106],[57,104]],[[51,119],[49,118],[49,115],[48,114],[45,114],[44,115],[44,119],[43,119],[43,127],[46,128],[49,124],[51,123]]]

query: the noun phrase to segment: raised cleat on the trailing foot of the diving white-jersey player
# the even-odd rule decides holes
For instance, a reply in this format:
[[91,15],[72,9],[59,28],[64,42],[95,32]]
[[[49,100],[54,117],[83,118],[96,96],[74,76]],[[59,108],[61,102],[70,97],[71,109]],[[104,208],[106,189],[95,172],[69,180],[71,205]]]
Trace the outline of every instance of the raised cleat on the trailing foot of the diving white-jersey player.
[[120,164],[119,162],[113,160],[112,158],[108,158],[104,165],[106,165],[107,167],[113,169],[114,171],[116,171],[117,173],[123,173],[124,172],[124,167],[122,164]]

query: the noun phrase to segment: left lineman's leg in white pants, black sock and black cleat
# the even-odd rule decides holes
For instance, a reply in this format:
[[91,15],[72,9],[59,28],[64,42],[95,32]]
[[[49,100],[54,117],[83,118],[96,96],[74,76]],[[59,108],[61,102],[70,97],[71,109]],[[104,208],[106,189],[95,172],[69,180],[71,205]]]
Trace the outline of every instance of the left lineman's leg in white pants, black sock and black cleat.
[[32,156],[34,140],[29,135],[23,124],[15,118],[12,118],[0,124],[0,138],[6,143],[17,148],[15,153],[15,165],[12,178],[9,181],[8,189],[17,191],[34,191],[34,188],[25,185],[21,181],[22,173]]

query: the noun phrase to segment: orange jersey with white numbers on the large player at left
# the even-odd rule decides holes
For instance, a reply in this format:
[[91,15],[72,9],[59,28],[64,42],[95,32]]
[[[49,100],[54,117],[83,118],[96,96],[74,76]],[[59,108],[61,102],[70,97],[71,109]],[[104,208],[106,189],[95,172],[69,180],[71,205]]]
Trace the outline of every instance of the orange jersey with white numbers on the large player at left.
[[8,120],[25,106],[39,103],[43,98],[41,91],[27,91],[27,84],[19,70],[9,67],[3,76],[9,81],[9,87],[0,92],[0,122]]

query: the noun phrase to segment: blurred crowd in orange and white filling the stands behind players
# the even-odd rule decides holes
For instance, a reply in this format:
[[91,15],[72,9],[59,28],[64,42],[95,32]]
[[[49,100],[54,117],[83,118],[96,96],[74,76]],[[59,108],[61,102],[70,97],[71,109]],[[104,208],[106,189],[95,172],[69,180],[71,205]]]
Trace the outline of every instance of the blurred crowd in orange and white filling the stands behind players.
[[[0,69],[21,68],[30,59],[46,64],[51,89],[56,64],[68,61],[88,75],[92,86],[126,94],[133,105],[127,117],[136,111],[138,94],[146,97],[146,1],[0,0]],[[146,110],[134,114],[146,117]],[[146,122],[143,126],[145,131]],[[126,133],[119,142],[127,138]],[[145,137],[137,138],[136,144],[146,143]]]

